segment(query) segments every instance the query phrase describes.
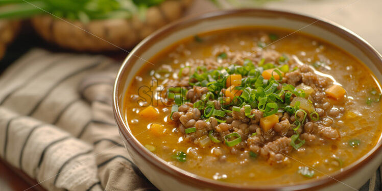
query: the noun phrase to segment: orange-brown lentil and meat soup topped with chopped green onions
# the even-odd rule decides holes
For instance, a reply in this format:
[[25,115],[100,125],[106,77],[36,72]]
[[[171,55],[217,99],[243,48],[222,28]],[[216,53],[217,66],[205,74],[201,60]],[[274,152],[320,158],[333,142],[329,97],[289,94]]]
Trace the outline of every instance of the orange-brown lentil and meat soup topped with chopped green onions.
[[291,184],[341,171],[380,137],[378,82],[339,47],[289,34],[215,31],[160,52],[128,87],[132,133],[170,164],[224,182]]

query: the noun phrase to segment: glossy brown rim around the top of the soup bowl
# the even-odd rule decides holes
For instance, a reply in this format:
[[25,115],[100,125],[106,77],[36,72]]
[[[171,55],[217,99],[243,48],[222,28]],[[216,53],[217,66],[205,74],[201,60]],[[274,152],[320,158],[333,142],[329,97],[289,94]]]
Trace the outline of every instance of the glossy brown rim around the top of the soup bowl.
[[[359,160],[353,162],[348,165],[342,171],[337,171],[330,176],[322,176],[319,179],[314,179],[307,182],[296,183],[296,184],[282,184],[282,185],[267,185],[267,186],[249,186],[249,185],[240,185],[234,183],[224,183],[208,178],[204,178],[187,171],[184,171],[174,165],[168,164],[163,159],[155,156],[151,152],[147,151],[144,146],[140,144],[140,142],[135,138],[135,136],[128,130],[128,125],[124,123],[124,117],[120,112],[120,98],[118,97],[118,92],[120,92],[120,83],[123,74],[132,67],[134,60],[137,59],[137,55],[141,55],[141,53],[147,50],[147,47],[150,44],[154,44],[163,37],[167,36],[167,34],[187,28],[188,26],[192,26],[193,24],[203,21],[205,19],[219,19],[227,16],[240,16],[240,15],[253,15],[254,13],[264,15],[274,15],[275,17],[284,17],[292,20],[299,21],[307,21],[307,23],[312,23],[311,25],[318,26],[324,29],[330,29],[330,32],[335,33],[343,38],[345,38],[348,42],[359,47],[360,50],[363,51],[367,57],[372,60],[373,63],[379,63],[379,66],[382,66],[382,56],[363,38],[356,35],[354,32],[342,27],[341,25],[328,21],[323,18],[307,16],[298,13],[292,13],[287,11],[280,10],[271,10],[271,9],[233,9],[233,10],[223,10],[223,11],[214,11],[209,13],[204,13],[198,16],[191,16],[182,18],[178,21],[172,22],[169,25],[161,28],[150,36],[146,37],[142,40],[135,48],[130,52],[129,56],[124,60],[120,70],[118,71],[113,90],[113,112],[115,121],[118,125],[118,129],[121,132],[121,136],[123,136],[124,141],[129,142],[131,148],[134,149],[142,158],[145,158],[152,165],[156,166],[163,173],[170,174],[172,177],[176,177],[177,179],[181,179],[182,182],[186,182],[188,184],[197,184],[201,187],[209,187],[219,190],[312,190],[322,188],[329,184],[333,184],[335,182],[340,182],[339,180],[343,180],[352,173],[360,170],[363,166],[365,166],[370,160],[372,160],[376,155],[380,153],[382,148],[381,139],[378,140],[377,145],[371,149],[367,154],[361,157]],[[155,55],[153,55],[155,56]],[[130,63],[130,64],[129,64]],[[378,67],[378,70],[381,67]],[[121,98],[122,99],[122,98]],[[132,140],[132,141],[131,141]],[[379,146],[378,146],[379,144]]]

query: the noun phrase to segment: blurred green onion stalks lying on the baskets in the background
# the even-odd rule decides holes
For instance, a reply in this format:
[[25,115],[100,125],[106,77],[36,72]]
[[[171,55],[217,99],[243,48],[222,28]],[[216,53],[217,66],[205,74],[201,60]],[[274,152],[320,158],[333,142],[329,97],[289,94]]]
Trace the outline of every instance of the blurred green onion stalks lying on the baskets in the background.
[[[0,19],[30,18],[51,13],[83,22],[96,19],[130,18],[164,0],[1,0]],[[140,16],[140,18],[142,18]]]

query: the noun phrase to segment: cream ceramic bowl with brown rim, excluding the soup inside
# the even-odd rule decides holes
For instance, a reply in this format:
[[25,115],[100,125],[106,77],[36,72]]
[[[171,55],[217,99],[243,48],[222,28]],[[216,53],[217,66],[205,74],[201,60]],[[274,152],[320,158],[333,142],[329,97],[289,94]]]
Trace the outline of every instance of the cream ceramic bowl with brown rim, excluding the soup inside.
[[264,9],[228,10],[185,18],[172,23],[140,42],[121,66],[114,85],[114,113],[127,151],[145,176],[160,190],[351,190],[360,188],[382,161],[381,144],[342,171],[293,185],[248,186],[229,184],[186,172],[155,156],[134,137],[122,108],[126,89],[138,69],[154,55],[186,37],[204,32],[264,26],[303,32],[341,47],[365,63],[382,80],[382,57],[369,43],[348,29],[331,21],[305,15]]

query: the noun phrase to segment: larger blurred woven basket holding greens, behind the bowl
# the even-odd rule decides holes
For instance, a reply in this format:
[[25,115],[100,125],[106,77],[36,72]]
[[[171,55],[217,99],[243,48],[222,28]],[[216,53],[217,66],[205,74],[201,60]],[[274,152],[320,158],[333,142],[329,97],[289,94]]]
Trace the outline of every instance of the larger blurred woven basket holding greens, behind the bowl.
[[[75,51],[101,52],[131,49],[140,40],[183,15],[192,0],[165,1],[150,7],[146,19],[68,21],[50,15],[32,18],[32,25],[45,40]],[[76,26],[76,27],[75,27]]]

